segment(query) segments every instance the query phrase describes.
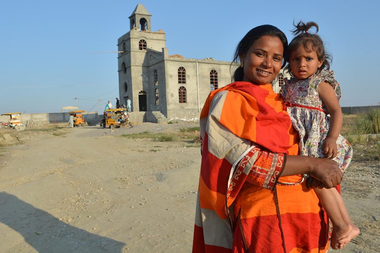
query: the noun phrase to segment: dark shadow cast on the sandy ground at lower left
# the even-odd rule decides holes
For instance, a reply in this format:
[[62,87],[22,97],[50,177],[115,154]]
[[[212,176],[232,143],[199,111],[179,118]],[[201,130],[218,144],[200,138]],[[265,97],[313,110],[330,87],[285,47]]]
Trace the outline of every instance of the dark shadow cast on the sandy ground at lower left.
[[62,222],[6,192],[0,192],[0,207],[0,222],[38,253],[121,253],[125,245]]

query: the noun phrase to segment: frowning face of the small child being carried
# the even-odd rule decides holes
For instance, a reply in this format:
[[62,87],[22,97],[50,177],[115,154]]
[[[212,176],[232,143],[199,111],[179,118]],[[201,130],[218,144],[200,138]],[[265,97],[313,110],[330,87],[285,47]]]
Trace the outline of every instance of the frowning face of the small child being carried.
[[289,66],[297,79],[306,79],[315,74],[322,66],[323,60],[318,61],[317,51],[308,52],[300,45],[290,52]]

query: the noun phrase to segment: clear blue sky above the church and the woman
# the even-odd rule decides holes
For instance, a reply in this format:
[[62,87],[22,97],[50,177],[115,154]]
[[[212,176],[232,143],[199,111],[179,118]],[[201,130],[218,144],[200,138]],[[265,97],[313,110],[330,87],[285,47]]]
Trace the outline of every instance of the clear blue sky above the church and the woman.
[[[227,3],[228,2],[228,3]],[[293,20],[315,21],[332,54],[341,106],[380,103],[379,1],[0,1],[0,113],[102,111],[118,97],[117,39],[138,3],[164,30],[169,54],[231,61],[251,28],[271,24],[289,41]]]

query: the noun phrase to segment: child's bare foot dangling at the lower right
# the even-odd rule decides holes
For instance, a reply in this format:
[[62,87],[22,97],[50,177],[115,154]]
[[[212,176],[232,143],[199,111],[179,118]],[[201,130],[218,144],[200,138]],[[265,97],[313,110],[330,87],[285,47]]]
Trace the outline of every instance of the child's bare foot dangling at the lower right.
[[333,226],[331,235],[331,248],[334,250],[343,249],[360,233],[360,230],[354,224],[343,223],[340,226]]

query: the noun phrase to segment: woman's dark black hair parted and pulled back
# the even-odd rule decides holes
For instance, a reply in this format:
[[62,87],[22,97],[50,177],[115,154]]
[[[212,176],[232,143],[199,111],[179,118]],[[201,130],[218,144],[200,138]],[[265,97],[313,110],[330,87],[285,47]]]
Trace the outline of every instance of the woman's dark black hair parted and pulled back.
[[[234,54],[234,60],[232,63],[239,63],[239,56],[243,56],[247,53],[249,47],[255,42],[257,39],[261,38],[262,36],[273,36],[280,38],[281,42],[284,46],[284,53],[287,51],[287,38],[285,34],[278,29],[275,26],[271,25],[262,25],[255,27],[251,29],[238,43],[238,46],[236,47],[235,54]],[[286,64],[285,61],[283,61],[284,67]],[[232,64],[231,64],[232,66]],[[233,81],[242,81],[244,76],[243,67],[239,66],[233,76]]]

